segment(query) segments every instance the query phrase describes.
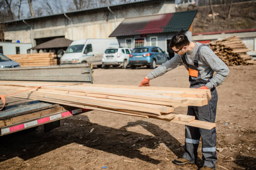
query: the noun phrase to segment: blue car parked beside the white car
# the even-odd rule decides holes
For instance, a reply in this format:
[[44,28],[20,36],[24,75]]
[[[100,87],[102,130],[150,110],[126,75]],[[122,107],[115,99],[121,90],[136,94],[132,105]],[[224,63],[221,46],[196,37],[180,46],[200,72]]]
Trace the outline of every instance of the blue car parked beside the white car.
[[148,68],[156,68],[169,60],[169,55],[159,47],[136,47],[132,50],[128,65],[131,69],[146,65]]

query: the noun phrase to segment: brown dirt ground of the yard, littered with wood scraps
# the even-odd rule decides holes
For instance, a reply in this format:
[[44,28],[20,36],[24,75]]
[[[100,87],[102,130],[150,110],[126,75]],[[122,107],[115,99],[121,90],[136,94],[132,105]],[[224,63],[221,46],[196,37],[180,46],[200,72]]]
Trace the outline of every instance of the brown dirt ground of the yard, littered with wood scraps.
[[[256,65],[233,66],[217,87],[217,170],[256,169]],[[139,85],[151,69],[94,69],[97,84]],[[152,86],[189,87],[180,66],[151,80]],[[176,113],[186,114],[179,107]],[[197,170],[174,165],[184,151],[184,125],[162,120],[90,111],[62,120],[44,133],[43,126],[0,137],[1,170]],[[92,131],[90,133],[90,131]],[[236,161],[225,161],[236,160]],[[222,166],[222,167],[220,167]]]

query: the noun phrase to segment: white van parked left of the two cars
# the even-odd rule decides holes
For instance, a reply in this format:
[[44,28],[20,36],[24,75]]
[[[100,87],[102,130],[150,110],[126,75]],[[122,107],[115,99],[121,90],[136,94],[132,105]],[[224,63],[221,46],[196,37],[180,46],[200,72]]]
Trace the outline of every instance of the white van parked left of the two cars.
[[119,47],[117,39],[84,39],[73,41],[60,59],[61,64],[92,63],[102,66],[102,54],[108,47]]

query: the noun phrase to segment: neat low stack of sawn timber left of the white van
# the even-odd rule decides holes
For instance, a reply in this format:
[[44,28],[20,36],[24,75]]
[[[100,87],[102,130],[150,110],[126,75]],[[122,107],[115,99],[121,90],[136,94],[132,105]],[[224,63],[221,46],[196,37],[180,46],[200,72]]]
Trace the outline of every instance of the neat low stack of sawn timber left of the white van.
[[11,60],[20,64],[20,67],[57,65],[57,59],[53,52],[6,55]]

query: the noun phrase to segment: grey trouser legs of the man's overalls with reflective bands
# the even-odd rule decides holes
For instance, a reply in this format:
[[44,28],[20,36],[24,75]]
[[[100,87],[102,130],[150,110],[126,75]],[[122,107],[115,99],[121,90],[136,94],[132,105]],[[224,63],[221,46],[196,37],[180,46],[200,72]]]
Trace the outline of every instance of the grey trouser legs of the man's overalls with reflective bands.
[[[195,116],[196,120],[206,122],[215,122],[216,107],[218,101],[217,90],[211,90],[212,99],[208,101],[208,105],[197,107],[189,106],[187,115]],[[216,129],[211,130],[186,126],[185,134],[185,153],[183,158],[189,161],[197,161],[197,148],[200,138],[202,138],[202,160],[204,165],[215,168],[217,162],[216,154]]]

